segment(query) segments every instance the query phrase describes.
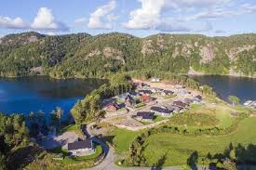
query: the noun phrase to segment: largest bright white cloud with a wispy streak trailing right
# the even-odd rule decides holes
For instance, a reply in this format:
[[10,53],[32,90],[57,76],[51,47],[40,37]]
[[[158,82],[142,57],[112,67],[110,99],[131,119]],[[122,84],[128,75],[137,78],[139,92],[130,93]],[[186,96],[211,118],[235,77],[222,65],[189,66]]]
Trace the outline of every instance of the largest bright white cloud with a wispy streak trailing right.
[[177,11],[193,8],[223,6],[231,0],[138,0],[141,7],[130,12],[128,22],[123,23],[127,29],[156,29],[160,31],[188,31],[181,21],[168,22],[162,17],[166,10]]

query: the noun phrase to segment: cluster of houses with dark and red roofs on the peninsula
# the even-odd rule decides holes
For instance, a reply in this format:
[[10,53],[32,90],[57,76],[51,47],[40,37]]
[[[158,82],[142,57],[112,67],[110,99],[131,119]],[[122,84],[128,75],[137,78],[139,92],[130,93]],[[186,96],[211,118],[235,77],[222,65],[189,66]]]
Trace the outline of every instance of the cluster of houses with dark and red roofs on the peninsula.
[[[160,79],[154,78],[151,82],[160,82]],[[153,95],[168,97],[168,96],[177,96],[177,97],[186,97],[175,99],[170,104],[158,105],[157,102],[150,108],[150,111],[138,111],[133,117],[139,121],[143,122],[153,122],[154,116],[159,115],[163,117],[169,117],[173,113],[181,113],[185,111],[190,104],[201,104],[202,97],[200,95],[191,98],[191,92],[185,89],[183,85],[176,85],[175,92],[171,90],[151,87],[145,83],[134,83],[136,90],[130,91],[128,93],[121,94],[115,98],[108,98],[103,100],[102,108],[105,111],[118,111],[122,108],[128,108],[133,110],[140,103],[148,103],[155,100]]]

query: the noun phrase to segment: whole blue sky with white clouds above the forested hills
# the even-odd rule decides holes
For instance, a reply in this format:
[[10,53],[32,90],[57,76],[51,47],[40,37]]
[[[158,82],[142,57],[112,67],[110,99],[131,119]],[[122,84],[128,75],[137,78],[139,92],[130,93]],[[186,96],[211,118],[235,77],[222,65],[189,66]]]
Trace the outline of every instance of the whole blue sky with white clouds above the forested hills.
[[256,33],[255,0],[0,0],[8,33]]

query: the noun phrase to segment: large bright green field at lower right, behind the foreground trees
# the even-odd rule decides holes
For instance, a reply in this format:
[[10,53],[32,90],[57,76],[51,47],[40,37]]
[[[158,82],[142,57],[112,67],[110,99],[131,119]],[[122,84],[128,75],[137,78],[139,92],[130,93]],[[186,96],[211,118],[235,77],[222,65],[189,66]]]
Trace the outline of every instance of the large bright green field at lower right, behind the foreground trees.
[[167,155],[165,165],[183,165],[187,158],[195,150],[199,157],[205,157],[209,152],[211,154],[223,153],[230,142],[235,145],[241,143],[256,144],[255,131],[256,118],[247,118],[242,121],[236,131],[224,136],[183,136],[178,134],[156,134],[147,138],[144,155],[148,163],[156,163],[163,155]]

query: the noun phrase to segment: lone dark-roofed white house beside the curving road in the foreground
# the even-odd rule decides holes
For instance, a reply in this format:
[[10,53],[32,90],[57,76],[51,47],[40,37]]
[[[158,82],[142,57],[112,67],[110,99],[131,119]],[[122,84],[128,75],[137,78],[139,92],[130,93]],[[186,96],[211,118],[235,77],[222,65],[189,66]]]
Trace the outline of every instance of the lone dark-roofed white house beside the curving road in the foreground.
[[94,147],[90,139],[68,143],[68,152],[73,156],[86,156],[94,153]]

